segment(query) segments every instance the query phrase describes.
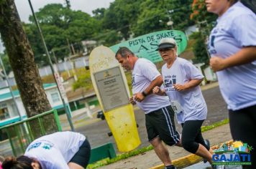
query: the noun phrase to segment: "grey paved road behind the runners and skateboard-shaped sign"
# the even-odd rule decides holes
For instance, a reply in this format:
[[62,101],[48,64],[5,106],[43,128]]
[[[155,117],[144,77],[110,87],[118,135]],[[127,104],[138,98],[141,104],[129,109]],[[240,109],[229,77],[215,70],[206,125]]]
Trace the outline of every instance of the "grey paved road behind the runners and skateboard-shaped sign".
[[[203,95],[209,110],[208,116],[204,122],[204,125],[211,125],[214,122],[219,122],[220,120],[224,120],[228,117],[227,106],[221,97],[221,94],[219,92],[219,87],[214,87],[209,90],[204,90]],[[140,133],[140,139],[142,141],[142,144],[140,145],[139,148],[142,148],[147,145],[150,145],[147,142],[147,133],[145,129],[145,115],[144,115],[144,112],[142,112],[142,110],[140,110],[137,106],[134,107],[134,113],[135,113],[137,124],[139,125],[138,130]],[[181,129],[180,125],[176,125],[176,126],[180,131]],[[92,148],[107,142],[114,143],[114,138],[109,137],[107,135],[107,132],[109,132],[109,127],[106,124],[105,120],[97,121],[83,127],[78,127],[76,128],[76,132],[81,132],[87,135]],[[116,152],[118,153],[118,151]]]

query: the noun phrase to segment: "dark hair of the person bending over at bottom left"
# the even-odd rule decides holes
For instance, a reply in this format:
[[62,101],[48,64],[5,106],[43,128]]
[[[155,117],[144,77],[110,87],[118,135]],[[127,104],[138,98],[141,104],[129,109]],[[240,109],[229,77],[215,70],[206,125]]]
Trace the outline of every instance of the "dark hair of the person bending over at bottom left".
[[31,165],[33,161],[32,158],[28,158],[24,155],[19,158],[8,157],[1,166],[3,169],[33,169]]

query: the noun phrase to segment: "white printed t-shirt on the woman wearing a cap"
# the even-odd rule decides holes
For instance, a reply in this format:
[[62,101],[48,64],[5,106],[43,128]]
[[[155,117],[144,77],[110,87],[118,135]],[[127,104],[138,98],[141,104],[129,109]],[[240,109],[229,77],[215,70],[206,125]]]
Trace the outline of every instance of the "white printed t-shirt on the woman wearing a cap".
[[183,108],[183,112],[177,115],[178,123],[187,120],[205,120],[207,107],[199,86],[185,91],[177,91],[173,84],[184,84],[191,79],[203,79],[199,70],[186,59],[177,57],[173,65],[168,68],[167,64],[162,67],[164,88],[171,101],[177,101]]

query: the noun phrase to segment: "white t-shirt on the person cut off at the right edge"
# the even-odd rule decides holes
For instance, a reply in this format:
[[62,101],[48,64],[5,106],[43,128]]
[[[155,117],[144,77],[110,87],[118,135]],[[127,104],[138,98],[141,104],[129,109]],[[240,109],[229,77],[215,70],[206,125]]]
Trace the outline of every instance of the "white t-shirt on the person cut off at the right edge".
[[[256,46],[256,15],[241,2],[219,19],[208,43],[211,57],[231,57],[242,47]],[[229,110],[256,105],[256,61],[216,72],[221,95]]]

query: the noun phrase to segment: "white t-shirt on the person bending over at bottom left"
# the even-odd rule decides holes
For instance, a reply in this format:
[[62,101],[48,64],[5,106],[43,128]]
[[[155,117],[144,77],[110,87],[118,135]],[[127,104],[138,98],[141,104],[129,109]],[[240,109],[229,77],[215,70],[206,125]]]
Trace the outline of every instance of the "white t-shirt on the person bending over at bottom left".
[[84,140],[86,137],[78,132],[55,132],[34,140],[24,155],[39,160],[42,169],[69,169],[68,162]]

